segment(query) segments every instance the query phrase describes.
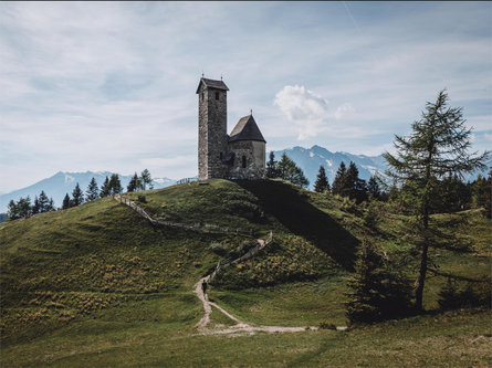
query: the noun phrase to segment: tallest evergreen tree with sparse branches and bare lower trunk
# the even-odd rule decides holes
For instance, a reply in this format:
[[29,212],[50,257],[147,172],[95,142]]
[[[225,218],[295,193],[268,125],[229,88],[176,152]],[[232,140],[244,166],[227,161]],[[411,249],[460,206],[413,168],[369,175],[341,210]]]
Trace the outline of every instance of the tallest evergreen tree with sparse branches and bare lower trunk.
[[464,126],[462,108],[448,106],[448,94],[441,91],[436,103],[428,102],[420,120],[412,124],[408,137],[395,136],[396,156],[384,155],[390,170],[387,174],[405,183],[411,200],[407,206],[416,215],[421,241],[420,269],[416,282],[416,304],[422,308],[429,246],[432,245],[429,217],[436,206],[440,181],[449,172],[472,172],[483,169],[489,153],[470,154],[471,129]]

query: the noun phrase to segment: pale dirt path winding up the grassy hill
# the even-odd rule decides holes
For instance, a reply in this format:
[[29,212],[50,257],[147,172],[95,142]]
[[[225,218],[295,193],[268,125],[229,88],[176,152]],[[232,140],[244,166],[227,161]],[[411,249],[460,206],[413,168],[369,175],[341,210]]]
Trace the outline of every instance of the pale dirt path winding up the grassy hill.
[[[122,200],[121,196],[115,196],[115,200],[119,201]],[[124,204],[133,208],[137,211],[140,215],[144,218],[147,218],[151,222],[155,220],[151,219],[144,210],[142,210],[138,204],[136,204],[133,201],[123,202]],[[140,210],[140,211],[139,211]],[[271,239],[270,239],[271,240]],[[257,239],[259,243],[258,250],[263,249],[266,245],[266,241],[263,239]],[[245,259],[249,259],[253,254],[243,254],[239,256],[238,259],[233,260],[231,264],[237,264]],[[299,333],[303,330],[316,330],[320,329],[317,326],[303,326],[303,327],[283,327],[283,326],[264,326],[264,325],[255,325],[251,323],[245,323],[238,317],[233,316],[229,312],[227,312],[224,308],[219,306],[217,303],[210,302],[206,291],[203,291],[203,283],[208,283],[210,280],[210,275],[207,275],[198,281],[198,283],[195,284],[195,294],[197,294],[197,297],[201,301],[203,305],[203,317],[195,325],[195,328],[197,328],[200,332],[200,335],[228,335],[228,334],[249,334],[254,335],[258,332],[262,333]],[[235,325],[233,326],[220,326],[216,325],[214,328],[209,328],[208,325],[210,324],[210,315],[212,314],[212,307],[214,307],[217,311],[226,315],[231,320],[235,322]],[[347,326],[337,326],[336,330],[346,330]]]

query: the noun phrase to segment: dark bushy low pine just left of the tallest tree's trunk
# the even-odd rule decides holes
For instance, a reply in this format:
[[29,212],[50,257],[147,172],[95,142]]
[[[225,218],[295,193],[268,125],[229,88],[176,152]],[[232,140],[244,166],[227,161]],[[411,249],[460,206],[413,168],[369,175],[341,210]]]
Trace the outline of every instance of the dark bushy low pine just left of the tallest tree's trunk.
[[347,281],[346,316],[350,323],[401,317],[412,309],[409,281],[363,241],[355,272]]

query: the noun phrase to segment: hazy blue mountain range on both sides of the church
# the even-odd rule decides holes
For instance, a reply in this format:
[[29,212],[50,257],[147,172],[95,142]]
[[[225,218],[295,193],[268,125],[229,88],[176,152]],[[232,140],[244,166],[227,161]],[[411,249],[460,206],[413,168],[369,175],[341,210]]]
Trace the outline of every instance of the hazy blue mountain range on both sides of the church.
[[[365,155],[353,155],[349,153],[332,153],[326,148],[321,146],[313,146],[311,148],[293,147],[282,150],[274,150],[275,160],[280,160],[283,153],[285,153],[291,159],[293,159],[299,167],[302,168],[304,175],[310,180],[310,188],[314,187],[316,181],[316,175],[320,170],[320,166],[323,165],[326,170],[326,176],[328,177],[329,183],[333,182],[335,178],[336,170],[338,169],[342,161],[348,167],[350,161],[354,161],[359,170],[359,177],[362,179],[368,180],[371,176],[377,175],[379,177],[385,177],[386,161],[381,155],[379,156],[365,156]],[[268,154],[269,155],[269,154]],[[266,160],[269,157],[266,156]],[[489,168],[492,167],[492,159],[485,162]],[[469,176],[468,180],[473,180],[477,178],[474,175]],[[75,185],[78,182],[81,189],[85,192],[88,182],[94,177],[97,181],[97,186],[104,182],[104,179],[111,177],[112,172],[108,171],[86,171],[86,172],[56,172],[54,176],[38,181],[36,183],[18,189],[8,193],[0,194],[0,212],[7,211],[7,204],[11,199],[19,200],[21,197],[30,196],[31,200],[34,196],[39,196],[41,190],[44,190],[48,197],[52,197],[56,207],[60,207],[63,201],[65,193],[72,194]],[[486,175],[486,172],[483,172]],[[132,179],[132,175],[119,176],[122,186],[126,190],[126,186]],[[153,186],[155,189],[165,188],[172,186],[177,180],[169,178],[154,178]]]

